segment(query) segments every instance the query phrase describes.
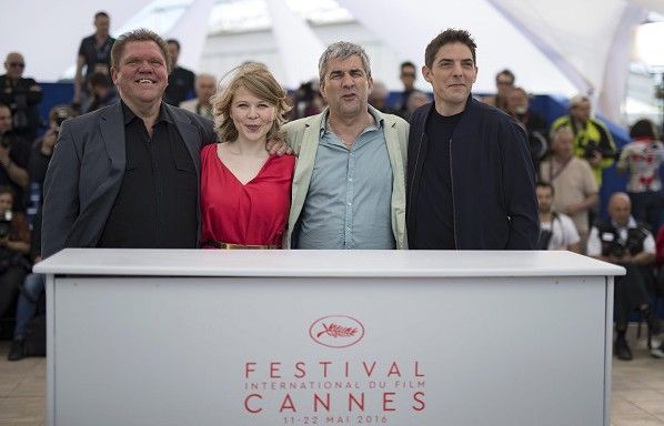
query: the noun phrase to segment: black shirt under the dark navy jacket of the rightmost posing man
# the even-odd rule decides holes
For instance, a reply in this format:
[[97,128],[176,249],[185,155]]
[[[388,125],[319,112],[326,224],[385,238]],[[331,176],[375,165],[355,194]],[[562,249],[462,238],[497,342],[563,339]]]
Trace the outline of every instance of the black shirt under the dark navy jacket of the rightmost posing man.
[[426,122],[426,158],[416,199],[415,235],[411,248],[455,250],[452,204],[451,140],[462,113],[443,116],[432,109]]

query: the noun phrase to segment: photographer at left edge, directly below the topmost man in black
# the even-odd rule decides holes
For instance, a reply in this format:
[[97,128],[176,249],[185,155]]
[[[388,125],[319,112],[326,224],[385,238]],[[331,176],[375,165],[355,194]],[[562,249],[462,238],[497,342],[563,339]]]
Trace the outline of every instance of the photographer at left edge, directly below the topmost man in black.
[[0,185],[10,185],[14,191],[13,206],[26,211],[24,190],[28,187],[28,161],[30,143],[12,131],[11,110],[0,103]]

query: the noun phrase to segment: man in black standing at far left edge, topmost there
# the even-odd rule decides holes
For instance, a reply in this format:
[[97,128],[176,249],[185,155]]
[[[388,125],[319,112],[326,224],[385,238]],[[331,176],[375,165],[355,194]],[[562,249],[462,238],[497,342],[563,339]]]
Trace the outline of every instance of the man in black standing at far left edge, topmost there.
[[11,52],[4,60],[7,74],[0,75],[0,102],[11,109],[17,135],[32,141],[40,125],[37,105],[41,102],[41,88],[33,79],[24,79],[23,55]]

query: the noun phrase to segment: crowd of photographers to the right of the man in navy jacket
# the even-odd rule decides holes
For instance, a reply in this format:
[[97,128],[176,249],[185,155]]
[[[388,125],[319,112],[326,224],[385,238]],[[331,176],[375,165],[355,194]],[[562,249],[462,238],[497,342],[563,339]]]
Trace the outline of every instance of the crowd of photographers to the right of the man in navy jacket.
[[[657,128],[638,120],[630,129],[631,142],[618,151],[606,125],[593,116],[590,97],[570,99],[569,113],[549,124],[530,109],[527,92],[514,82],[510,70],[499,72],[496,94],[484,101],[512,115],[527,133],[537,171],[537,248],[569,250],[625,267],[626,275],[615,278],[614,352],[618,359],[630,361],[625,335],[631,315],[638,313],[648,332],[658,333],[653,301],[664,296],[664,145]],[[610,195],[608,217],[603,219],[602,176],[613,165],[627,176],[627,184],[624,192]],[[664,358],[664,344],[651,354]]]

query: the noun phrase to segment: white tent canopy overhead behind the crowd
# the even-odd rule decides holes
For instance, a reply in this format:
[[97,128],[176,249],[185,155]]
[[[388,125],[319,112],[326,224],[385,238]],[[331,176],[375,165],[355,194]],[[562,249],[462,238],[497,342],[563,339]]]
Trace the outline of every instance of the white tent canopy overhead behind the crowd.
[[[262,7],[271,18],[283,83],[294,89],[299,82],[315,77],[324,43],[302,16],[291,10],[298,2],[245,1],[266,1]],[[164,37],[180,39],[187,45],[180,63],[198,70],[208,40],[209,17],[220,2],[238,0],[190,0],[189,9],[169,28],[163,28],[163,22],[148,26]],[[131,18],[144,12],[149,3],[149,0],[13,2],[0,14],[0,55],[20,51],[26,55],[27,75],[40,81],[57,80],[74,61],[81,38],[92,33],[94,12],[108,11],[112,29],[127,29],[125,24],[134,21]],[[597,109],[612,119],[618,118],[624,99],[633,30],[644,21],[648,10],[664,9],[661,0],[338,0],[338,3],[393,49],[400,60],[422,63],[426,43],[442,29],[467,29],[477,42],[476,91],[494,91],[494,73],[510,68],[516,74],[516,83],[533,92],[590,93],[597,100]],[[343,33],[338,37],[346,39]]]

